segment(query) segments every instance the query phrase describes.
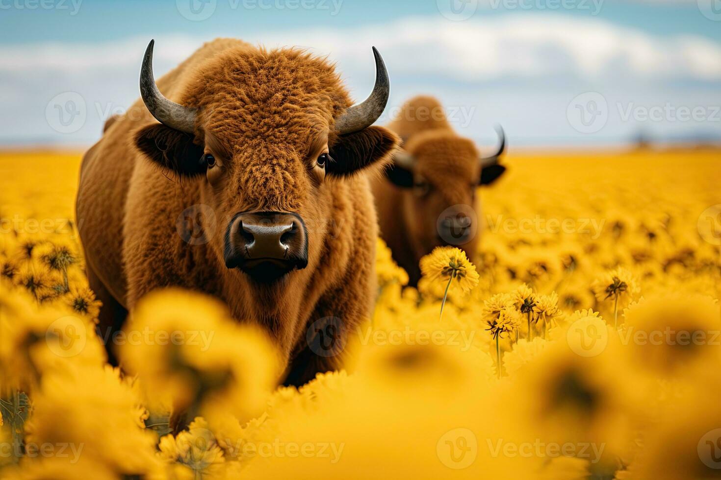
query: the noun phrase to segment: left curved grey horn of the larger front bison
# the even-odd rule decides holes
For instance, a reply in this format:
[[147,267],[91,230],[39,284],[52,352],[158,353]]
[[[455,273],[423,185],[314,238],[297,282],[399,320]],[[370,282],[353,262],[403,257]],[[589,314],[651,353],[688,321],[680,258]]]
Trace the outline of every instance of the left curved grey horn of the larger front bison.
[[140,71],[140,94],[145,106],[158,122],[175,130],[193,133],[195,130],[195,109],[183,107],[163,96],[153,78],[153,45],[151,40],[143,57],[143,66]]

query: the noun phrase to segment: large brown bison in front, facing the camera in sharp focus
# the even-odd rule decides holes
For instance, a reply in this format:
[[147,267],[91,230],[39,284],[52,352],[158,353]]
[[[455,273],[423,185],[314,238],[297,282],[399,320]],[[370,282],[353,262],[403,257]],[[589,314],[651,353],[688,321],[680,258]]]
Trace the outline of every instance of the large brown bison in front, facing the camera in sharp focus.
[[333,66],[302,50],[218,39],[156,83],[153,45],[142,103],[107,124],[81,167],[76,215],[101,332],[153,289],[203,291],[264,327],[286,382],[302,384],[337,358],[310,339],[337,322],[320,332],[337,345],[373,304],[363,172],[399,143],[371,127],[389,94],[383,60],[373,48],[376,85],[353,106]]

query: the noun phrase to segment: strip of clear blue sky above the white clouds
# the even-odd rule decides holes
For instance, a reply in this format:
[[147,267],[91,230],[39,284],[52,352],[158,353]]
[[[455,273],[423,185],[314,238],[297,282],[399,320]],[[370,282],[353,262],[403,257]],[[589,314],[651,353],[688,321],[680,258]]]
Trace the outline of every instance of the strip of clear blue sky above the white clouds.
[[[249,8],[234,9],[233,6],[241,5],[242,1],[218,0],[215,13],[210,18],[195,22],[179,14],[174,0],[75,1],[79,2],[76,13],[72,0],[56,0],[58,8],[53,9],[39,6],[37,9],[0,9],[3,27],[0,29],[0,42],[3,45],[56,40],[92,42],[167,32],[242,37],[247,33],[285,27],[342,27],[415,15],[438,15],[438,5],[434,0],[342,0],[337,14],[334,14],[331,0],[327,1],[331,7],[327,11],[262,9],[260,4],[253,7],[252,2],[248,4]],[[11,6],[14,3],[17,0],[3,0],[0,5]],[[268,1],[264,5],[273,3]],[[547,12],[539,9],[540,5],[543,2],[528,2],[531,9],[523,9],[523,12]],[[571,17],[587,15],[583,9],[559,9],[556,12]],[[513,13],[510,9],[479,7],[475,16],[492,19]],[[603,2],[598,18],[653,35],[699,35],[721,42],[721,24],[699,15],[695,1],[609,0]]]

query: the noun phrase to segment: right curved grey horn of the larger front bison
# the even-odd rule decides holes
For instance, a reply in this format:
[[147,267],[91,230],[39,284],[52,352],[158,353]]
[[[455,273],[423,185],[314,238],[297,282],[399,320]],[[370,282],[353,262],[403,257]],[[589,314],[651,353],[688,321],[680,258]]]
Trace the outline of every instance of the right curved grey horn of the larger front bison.
[[373,47],[373,56],[376,58],[376,85],[366,101],[353,105],[335,121],[335,130],[340,135],[370,127],[386,108],[390,92],[388,71],[376,47]]

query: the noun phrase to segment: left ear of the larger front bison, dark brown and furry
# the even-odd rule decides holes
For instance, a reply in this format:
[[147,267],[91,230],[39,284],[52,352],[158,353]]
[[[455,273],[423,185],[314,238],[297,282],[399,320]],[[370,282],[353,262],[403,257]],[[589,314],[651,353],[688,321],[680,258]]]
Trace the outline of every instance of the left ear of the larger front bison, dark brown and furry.
[[196,176],[206,171],[203,147],[193,142],[193,135],[164,124],[152,124],[136,132],[135,142],[138,150],[164,170],[179,176]]

